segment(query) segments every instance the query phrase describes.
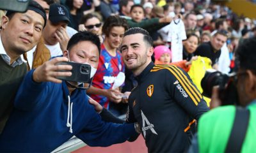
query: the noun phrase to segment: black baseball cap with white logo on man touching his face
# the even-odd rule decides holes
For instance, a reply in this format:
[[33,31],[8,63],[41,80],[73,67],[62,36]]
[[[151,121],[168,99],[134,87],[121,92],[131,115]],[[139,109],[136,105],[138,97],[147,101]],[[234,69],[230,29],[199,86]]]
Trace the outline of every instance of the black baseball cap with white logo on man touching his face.
[[49,20],[54,24],[61,21],[70,22],[67,8],[61,4],[51,4],[49,9]]

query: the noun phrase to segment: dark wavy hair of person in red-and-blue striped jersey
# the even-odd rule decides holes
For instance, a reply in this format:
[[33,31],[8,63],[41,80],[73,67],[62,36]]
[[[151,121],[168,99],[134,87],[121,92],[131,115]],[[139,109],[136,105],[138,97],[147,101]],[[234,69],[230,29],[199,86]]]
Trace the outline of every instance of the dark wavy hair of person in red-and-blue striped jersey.
[[125,18],[119,17],[118,15],[109,16],[102,26],[102,33],[106,36],[109,36],[109,32],[111,31],[112,27],[124,27],[126,31],[129,27]]

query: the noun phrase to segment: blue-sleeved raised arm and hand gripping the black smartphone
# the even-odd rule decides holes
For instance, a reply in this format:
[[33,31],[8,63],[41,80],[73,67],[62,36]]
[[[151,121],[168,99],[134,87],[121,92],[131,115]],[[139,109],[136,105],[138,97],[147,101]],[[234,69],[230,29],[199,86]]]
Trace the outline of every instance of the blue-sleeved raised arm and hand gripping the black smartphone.
[[35,106],[40,105],[38,101],[44,101],[47,98],[45,94],[51,92],[53,85],[51,82],[61,83],[61,80],[56,77],[72,75],[71,72],[63,71],[72,69],[72,66],[56,65],[57,62],[63,61],[68,61],[68,59],[56,57],[29,71],[20,84],[15,98],[15,107],[21,110],[35,108]]

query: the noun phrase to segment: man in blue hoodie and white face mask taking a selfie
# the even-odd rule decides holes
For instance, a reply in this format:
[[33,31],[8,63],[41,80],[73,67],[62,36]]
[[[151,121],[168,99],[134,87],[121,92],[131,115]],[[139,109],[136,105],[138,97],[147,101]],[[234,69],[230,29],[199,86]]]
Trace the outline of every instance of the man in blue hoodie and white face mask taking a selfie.
[[15,99],[15,109],[0,136],[3,152],[51,152],[76,135],[90,146],[106,147],[136,135],[135,124],[103,122],[77,82],[57,77],[72,75],[70,65],[97,68],[100,40],[90,32],[74,34],[64,57],[56,57],[27,73]]

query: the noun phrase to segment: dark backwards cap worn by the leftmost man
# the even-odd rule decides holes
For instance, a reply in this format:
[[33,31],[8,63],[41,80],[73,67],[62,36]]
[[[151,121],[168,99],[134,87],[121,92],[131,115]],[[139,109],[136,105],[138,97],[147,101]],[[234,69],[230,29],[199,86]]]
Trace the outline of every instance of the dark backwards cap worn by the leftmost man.
[[[35,11],[36,13],[40,14],[44,18],[44,27],[45,27],[46,14],[45,14],[44,8],[42,8],[42,6],[40,6],[40,4],[36,3],[35,1],[30,1],[28,4],[27,10],[32,10],[32,11]],[[12,13],[18,13],[18,11],[8,10],[6,12],[6,16],[8,17],[8,15],[11,15]]]

